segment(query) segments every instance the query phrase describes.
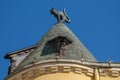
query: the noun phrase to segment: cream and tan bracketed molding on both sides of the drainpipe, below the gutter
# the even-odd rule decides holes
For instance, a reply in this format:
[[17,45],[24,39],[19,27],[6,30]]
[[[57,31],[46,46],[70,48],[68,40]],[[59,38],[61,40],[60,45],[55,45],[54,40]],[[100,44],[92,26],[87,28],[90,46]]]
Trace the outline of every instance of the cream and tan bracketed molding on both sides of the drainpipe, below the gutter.
[[[24,78],[35,78],[38,76],[53,74],[53,73],[75,73],[84,76],[94,77],[96,66],[88,66],[84,64],[78,64],[77,62],[71,61],[43,61],[35,64],[31,64],[26,66],[22,71],[15,72],[8,76],[6,80],[19,80],[16,79],[17,76]],[[96,67],[98,69],[98,75],[100,77],[120,77],[120,68],[101,68]]]

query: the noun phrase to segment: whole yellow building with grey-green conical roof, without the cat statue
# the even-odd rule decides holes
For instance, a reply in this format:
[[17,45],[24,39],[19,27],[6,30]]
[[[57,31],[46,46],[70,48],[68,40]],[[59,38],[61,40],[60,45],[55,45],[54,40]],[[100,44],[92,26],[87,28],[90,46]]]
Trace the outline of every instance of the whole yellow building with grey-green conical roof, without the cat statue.
[[5,80],[120,80],[120,64],[98,62],[63,22],[35,46],[7,54]]

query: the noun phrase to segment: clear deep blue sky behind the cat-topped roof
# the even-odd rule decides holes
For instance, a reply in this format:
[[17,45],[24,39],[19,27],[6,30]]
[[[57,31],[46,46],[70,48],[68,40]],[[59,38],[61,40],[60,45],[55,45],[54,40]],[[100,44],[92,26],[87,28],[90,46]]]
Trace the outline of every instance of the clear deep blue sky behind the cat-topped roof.
[[120,62],[120,0],[0,0],[0,80],[12,51],[36,44],[56,23],[49,13],[66,9],[66,24],[100,62]]

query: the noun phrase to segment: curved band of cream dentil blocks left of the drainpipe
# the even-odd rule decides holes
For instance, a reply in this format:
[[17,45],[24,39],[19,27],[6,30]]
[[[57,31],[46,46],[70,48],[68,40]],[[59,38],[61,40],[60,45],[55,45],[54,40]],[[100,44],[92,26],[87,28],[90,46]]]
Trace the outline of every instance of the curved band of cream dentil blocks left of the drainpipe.
[[25,71],[22,71],[20,73],[18,73],[17,75],[13,75],[13,77],[11,77],[9,80],[19,80],[19,78],[17,78],[18,76],[21,76],[20,79],[28,79],[31,77],[37,77],[37,76],[42,76],[45,74],[52,74],[52,73],[69,73],[69,72],[73,72],[73,73],[77,73],[80,75],[86,75],[86,76],[93,76],[93,69],[91,68],[91,70],[89,70],[89,68],[85,68],[85,66],[82,67],[76,67],[74,65],[65,65],[65,64],[56,64],[55,66],[52,65],[39,65],[39,66],[34,66],[31,68],[28,68]]

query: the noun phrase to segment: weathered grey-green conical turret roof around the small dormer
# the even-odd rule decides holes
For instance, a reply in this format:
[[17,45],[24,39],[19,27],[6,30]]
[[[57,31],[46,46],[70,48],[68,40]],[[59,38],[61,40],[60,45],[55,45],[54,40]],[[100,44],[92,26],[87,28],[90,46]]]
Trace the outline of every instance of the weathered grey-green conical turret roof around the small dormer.
[[[79,39],[68,29],[63,23],[57,23],[54,25],[38,42],[38,47],[31,53],[27,58],[17,67],[22,69],[25,66],[32,64],[34,59],[36,62],[56,59],[58,52],[55,51],[54,47],[47,44],[52,39],[64,36],[70,39],[72,42],[67,46],[66,54],[63,59],[81,60],[96,62],[93,55],[87,50],[87,48],[79,41]],[[17,70],[16,69],[16,70]]]

